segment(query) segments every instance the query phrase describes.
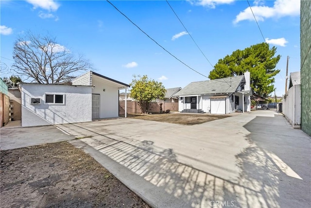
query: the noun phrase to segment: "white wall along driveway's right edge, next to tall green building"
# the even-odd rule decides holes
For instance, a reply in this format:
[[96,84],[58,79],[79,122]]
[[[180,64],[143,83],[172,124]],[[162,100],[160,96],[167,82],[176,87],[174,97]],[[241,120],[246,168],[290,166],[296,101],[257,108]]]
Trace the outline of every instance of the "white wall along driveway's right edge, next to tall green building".
[[294,85],[283,99],[283,114],[295,129],[300,129],[301,125],[301,88],[300,85]]

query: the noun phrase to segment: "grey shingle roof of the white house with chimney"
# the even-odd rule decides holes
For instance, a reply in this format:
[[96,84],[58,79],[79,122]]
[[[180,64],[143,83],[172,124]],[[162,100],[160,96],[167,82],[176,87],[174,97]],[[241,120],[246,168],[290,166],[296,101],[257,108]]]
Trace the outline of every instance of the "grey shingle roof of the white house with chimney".
[[184,87],[175,95],[181,96],[235,93],[241,82],[245,82],[244,75],[207,81],[191,82],[189,85]]

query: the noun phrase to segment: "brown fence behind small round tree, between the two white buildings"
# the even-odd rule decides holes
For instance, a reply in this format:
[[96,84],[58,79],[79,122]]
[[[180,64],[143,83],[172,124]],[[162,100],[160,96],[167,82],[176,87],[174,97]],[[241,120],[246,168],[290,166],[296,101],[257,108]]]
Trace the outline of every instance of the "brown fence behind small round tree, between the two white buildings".
[[[151,102],[149,104],[148,113],[160,113],[160,104],[162,103],[162,111],[178,111],[178,103],[166,103],[166,102]],[[125,113],[125,100],[119,101],[119,114]],[[127,101],[127,113],[142,113],[138,103],[136,101]]]

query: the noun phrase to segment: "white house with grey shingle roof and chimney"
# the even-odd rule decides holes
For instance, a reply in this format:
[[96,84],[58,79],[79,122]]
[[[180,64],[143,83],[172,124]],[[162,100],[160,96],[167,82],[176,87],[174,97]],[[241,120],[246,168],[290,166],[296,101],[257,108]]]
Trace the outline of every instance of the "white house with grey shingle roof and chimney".
[[250,112],[252,96],[250,73],[191,82],[175,95],[179,97],[179,112],[215,114]]

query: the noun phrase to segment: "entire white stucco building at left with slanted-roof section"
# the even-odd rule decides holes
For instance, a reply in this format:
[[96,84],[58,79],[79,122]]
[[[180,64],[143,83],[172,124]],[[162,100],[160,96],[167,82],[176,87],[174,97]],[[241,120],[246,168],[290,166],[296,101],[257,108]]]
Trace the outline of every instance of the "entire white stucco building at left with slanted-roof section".
[[119,90],[130,87],[92,71],[72,85],[19,83],[22,127],[119,117]]

